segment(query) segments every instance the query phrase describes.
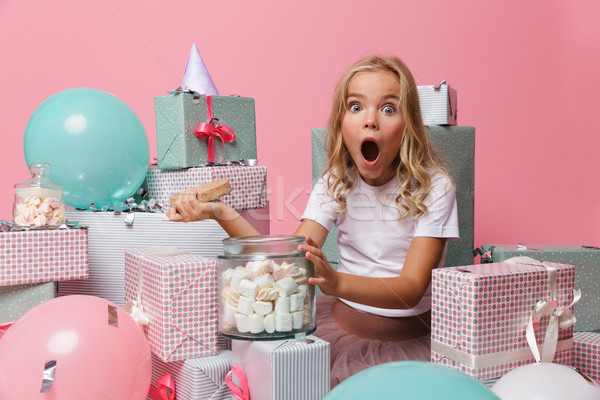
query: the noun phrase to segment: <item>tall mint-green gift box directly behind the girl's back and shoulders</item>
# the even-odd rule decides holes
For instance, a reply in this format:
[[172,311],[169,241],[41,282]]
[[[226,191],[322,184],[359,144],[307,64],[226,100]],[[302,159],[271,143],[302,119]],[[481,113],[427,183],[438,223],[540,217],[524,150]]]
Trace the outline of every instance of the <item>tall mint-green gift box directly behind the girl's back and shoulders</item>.
[[[312,130],[312,179],[317,182],[327,167],[325,128]],[[428,137],[456,185],[460,239],[448,243],[445,266],[473,264],[475,196],[475,128],[430,126]],[[330,263],[339,263],[337,228],[329,232],[323,252]]]

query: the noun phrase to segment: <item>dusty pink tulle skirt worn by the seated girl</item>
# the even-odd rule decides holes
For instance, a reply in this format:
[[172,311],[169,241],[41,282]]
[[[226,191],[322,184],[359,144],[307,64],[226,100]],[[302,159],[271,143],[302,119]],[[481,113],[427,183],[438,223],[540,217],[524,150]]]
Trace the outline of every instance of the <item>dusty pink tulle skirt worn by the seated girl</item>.
[[331,388],[374,365],[430,361],[431,314],[389,318],[358,311],[336,297],[317,296],[314,335],[331,345]]

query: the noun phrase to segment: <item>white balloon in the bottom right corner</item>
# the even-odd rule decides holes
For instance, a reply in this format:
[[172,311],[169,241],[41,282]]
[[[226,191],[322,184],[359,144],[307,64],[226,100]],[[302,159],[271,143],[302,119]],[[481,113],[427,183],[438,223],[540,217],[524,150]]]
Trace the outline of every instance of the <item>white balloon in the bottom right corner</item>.
[[600,386],[573,368],[553,363],[515,368],[498,379],[492,391],[502,400],[600,399]]

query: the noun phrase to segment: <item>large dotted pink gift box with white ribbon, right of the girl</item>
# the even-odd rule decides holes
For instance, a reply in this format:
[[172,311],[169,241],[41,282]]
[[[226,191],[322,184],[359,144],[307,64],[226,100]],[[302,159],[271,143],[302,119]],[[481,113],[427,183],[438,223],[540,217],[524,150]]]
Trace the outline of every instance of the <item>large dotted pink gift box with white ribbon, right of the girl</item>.
[[[574,268],[513,262],[433,270],[431,359],[479,380],[489,380],[534,362],[526,327],[538,301],[568,307],[573,301]],[[567,312],[568,313],[568,312]],[[567,314],[565,314],[567,315]],[[544,341],[549,317],[535,338]],[[535,325],[532,325],[535,326]],[[570,365],[573,327],[558,329],[554,362]]]

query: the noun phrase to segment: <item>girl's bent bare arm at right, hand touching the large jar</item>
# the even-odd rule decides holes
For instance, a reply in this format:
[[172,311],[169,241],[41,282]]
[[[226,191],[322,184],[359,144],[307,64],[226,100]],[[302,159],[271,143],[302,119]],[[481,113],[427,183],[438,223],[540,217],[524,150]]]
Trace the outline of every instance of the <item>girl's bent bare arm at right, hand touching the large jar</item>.
[[310,237],[300,251],[315,265],[315,278],[309,283],[323,293],[373,307],[407,309],[415,307],[429,287],[431,271],[438,266],[445,244],[444,238],[413,238],[401,274],[391,278],[337,272],[321,252],[322,242]]

